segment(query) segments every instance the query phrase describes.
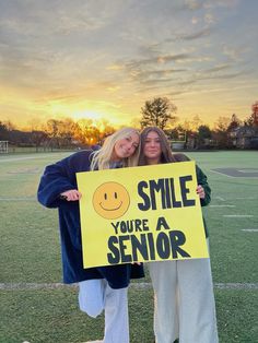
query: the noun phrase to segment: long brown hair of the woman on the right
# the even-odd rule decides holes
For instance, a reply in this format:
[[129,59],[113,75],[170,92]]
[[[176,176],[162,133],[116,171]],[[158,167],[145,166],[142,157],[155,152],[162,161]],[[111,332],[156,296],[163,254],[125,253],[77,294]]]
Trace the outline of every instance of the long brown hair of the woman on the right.
[[169,142],[168,142],[164,131],[157,127],[148,127],[141,131],[141,152],[140,152],[138,165],[144,166],[148,164],[145,156],[143,154],[143,149],[144,149],[146,137],[152,131],[156,132],[159,134],[160,140],[161,140],[161,150],[162,150],[161,163],[176,162],[175,158],[173,157],[172,149],[171,149]]

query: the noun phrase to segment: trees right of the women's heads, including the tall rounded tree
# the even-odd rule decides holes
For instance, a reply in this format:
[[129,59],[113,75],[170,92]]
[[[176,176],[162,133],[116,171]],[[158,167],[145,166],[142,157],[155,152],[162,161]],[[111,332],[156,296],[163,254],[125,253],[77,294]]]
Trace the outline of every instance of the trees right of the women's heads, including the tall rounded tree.
[[184,141],[185,149],[258,149],[258,102],[251,106],[253,113],[244,120],[236,115],[219,117],[214,128],[203,125],[199,116],[176,125],[177,108],[166,97],[145,102],[141,108],[141,126],[157,126],[171,141]]

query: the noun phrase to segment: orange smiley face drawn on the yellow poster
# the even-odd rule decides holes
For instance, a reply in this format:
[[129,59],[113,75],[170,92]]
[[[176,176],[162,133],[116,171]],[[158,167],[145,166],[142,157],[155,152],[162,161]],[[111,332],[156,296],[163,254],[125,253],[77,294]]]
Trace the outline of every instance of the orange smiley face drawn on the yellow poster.
[[106,220],[116,220],[127,212],[130,197],[122,185],[112,181],[102,184],[95,190],[92,202],[98,215]]

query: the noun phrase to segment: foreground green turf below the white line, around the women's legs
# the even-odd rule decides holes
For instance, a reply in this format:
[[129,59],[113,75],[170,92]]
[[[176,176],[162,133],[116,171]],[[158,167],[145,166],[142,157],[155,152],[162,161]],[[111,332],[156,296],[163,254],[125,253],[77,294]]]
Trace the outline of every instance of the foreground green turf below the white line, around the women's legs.
[[[220,342],[257,342],[258,291],[215,291]],[[129,291],[131,343],[152,343],[150,289]],[[77,306],[77,291],[0,293],[0,342],[84,342],[102,338],[104,317],[91,319]],[[255,316],[256,315],[256,316]]]

